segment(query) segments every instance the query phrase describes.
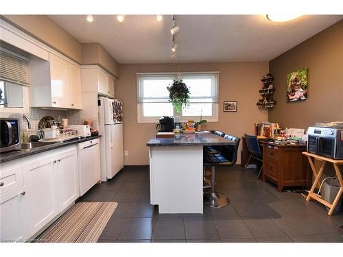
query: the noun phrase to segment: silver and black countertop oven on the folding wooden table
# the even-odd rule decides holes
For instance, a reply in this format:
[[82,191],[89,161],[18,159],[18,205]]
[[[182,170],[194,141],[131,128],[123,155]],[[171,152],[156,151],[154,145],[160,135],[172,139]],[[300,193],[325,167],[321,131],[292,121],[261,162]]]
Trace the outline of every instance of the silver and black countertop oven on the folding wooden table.
[[307,151],[333,159],[343,159],[343,122],[316,123],[309,127]]

